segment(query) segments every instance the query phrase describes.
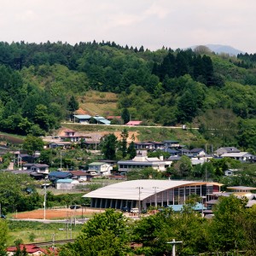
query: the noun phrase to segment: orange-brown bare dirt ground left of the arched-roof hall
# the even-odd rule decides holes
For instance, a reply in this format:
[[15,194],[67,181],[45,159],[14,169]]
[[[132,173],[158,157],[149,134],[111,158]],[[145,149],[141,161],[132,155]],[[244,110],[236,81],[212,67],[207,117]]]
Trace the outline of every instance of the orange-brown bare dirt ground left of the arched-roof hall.
[[[84,217],[91,217],[96,212],[104,212],[103,210],[96,210],[96,209],[77,209],[77,210],[71,210],[71,209],[46,209],[45,211],[45,218],[46,219],[58,219],[58,218],[71,218],[71,217],[81,217],[84,215]],[[16,212],[12,214],[11,218],[44,218],[44,209],[40,210],[34,210],[31,212]]]

